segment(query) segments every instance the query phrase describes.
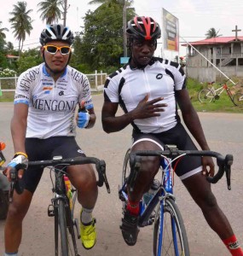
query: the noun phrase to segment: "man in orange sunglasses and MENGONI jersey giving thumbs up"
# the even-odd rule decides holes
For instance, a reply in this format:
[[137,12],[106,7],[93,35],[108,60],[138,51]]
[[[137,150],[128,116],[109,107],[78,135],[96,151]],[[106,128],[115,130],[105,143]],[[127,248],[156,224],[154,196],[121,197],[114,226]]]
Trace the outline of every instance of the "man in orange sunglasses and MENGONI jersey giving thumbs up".
[[[62,155],[63,158],[85,155],[75,140],[76,119],[79,128],[91,128],[96,118],[89,80],[83,73],[67,65],[73,39],[67,26],[46,26],[40,35],[43,63],[20,74],[11,120],[15,154],[6,170],[7,177],[10,166],[19,163],[27,166],[28,160],[48,160],[55,155]],[[76,117],[78,104],[86,112],[81,111]],[[5,225],[5,255],[18,255],[22,221],[43,173],[42,168],[21,171],[20,183],[25,189],[21,195],[14,193],[13,202],[9,205]],[[82,205],[82,243],[86,249],[90,249],[96,241],[95,218],[92,217],[98,195],[95,172],[91,165],[68,166],[67,172],[78,189],[78,201]]]

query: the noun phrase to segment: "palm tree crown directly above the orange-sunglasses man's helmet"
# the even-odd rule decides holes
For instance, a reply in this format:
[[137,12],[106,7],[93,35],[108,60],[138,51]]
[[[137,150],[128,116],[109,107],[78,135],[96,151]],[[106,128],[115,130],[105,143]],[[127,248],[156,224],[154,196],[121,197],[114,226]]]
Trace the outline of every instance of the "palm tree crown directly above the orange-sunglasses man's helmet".
[[60,9],[61,4],[61,0],[45,0],[38,3],[38,12],[42,12],[40,18],[43,21],[46,20],[47,24],[58,22],[62,14]]

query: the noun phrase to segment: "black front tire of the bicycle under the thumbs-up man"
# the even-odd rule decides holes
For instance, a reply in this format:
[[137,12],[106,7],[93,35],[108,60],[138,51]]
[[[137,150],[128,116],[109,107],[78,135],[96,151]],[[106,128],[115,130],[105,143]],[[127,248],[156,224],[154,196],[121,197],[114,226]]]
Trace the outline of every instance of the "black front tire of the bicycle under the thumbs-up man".
[[69,256],[65,202],[58,201],[55,207],[55,256]]

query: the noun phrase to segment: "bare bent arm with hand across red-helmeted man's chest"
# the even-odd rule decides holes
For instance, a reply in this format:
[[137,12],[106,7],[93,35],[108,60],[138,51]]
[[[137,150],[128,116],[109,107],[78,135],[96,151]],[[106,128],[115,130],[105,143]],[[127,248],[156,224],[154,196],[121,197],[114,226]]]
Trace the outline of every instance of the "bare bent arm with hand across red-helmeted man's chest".
[[167,106],[165,103],[158,103],[163,100],[162,97],[148,101],[148,95],[138,103],[136,108],[121,116],[115,116],[119,107],[119,103],[104,102],[101,114],[103,130],[107,133],[121,131],[127,125],[130,125],[135,119],[147,119],[154,116],[159,116],[159,112],[163,112]]

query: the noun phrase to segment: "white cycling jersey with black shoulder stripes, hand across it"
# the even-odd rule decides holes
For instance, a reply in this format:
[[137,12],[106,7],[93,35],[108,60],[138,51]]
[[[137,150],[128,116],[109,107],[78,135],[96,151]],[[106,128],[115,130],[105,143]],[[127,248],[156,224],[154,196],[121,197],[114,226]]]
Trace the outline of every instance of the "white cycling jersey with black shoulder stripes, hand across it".
[[[159,133],[173,128],[180,120],[177,114],[175,90],[186,88],[185,73],[182,67],[173,61],[153,57],[148,66],[139,69],[130,64],[120,68],[107,78],[105,101],[117,102],[128,113],[148,94],[148,101],[164,97],[161,103],[167,103],[165,112],[148,119],[135,119],[136,131]],[[157,102],[159,103],[159,102]]]

